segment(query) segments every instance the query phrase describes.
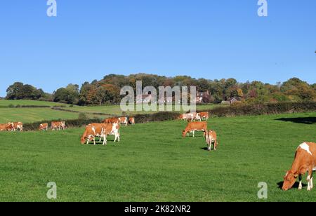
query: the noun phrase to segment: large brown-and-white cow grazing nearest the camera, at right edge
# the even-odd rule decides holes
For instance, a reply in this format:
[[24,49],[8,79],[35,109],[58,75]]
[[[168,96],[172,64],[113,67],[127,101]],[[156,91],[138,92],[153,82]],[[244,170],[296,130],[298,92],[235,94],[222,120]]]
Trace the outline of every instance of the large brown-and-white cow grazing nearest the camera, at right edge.
[[308,191],[310,191],[314,184],[312,182],[312,171],[316,170],[316,143],[304,142],[296,150],[294,163],[291,170],[287,172],[284,177],[284,183],[282,189],[287,191],[293,187],[296,179],[299,179],[298,189],[302,187],[302,175],[308,173]]

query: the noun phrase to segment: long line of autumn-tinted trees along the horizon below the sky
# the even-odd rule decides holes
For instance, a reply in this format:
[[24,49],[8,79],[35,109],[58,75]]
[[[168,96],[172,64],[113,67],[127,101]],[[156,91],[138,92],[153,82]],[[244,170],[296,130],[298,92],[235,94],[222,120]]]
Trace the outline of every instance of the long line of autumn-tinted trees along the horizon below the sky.
[[238,82],[236,79],[194,79],[190,76],[158,76],[154,74],[132,74],[129,76],[110,74],[100,81],[85,82],[81,87],[69,84],[52,94],[20,82],[7,89],[7,100],[46,100],[78,105],[119,104],[120,90],[131,86],[136,90],[136,81],[143,81],[143,87],[154,86],[196,86],[198,92],[209,92],[203,102],[220,103],[237,97],[241,102],[302,102],[316,101],[316,83],[310,85],[298,78],[284,83],[263,83],[261,81]]

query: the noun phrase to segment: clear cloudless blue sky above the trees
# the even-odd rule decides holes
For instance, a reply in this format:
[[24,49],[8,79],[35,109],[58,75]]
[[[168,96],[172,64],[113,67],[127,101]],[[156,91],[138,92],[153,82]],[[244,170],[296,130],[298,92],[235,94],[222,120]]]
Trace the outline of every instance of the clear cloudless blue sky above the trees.
[[0,3],[0,96],[15,81],[46,92],[145,72],[316,83],[316,1],[46,0]]

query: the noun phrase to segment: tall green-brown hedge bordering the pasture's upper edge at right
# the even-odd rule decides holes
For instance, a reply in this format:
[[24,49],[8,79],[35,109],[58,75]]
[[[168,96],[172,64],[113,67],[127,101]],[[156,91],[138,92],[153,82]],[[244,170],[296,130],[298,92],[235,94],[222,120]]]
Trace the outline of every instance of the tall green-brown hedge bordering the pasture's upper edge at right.
[[[256,116],[264,114],[283,114],[298,112],[315,112],[316,102],[279,102],[266,104],[237,104],[230,107],[216,107],[208,111],[211,116]],[[198,111],[202,112],[202,111]]]

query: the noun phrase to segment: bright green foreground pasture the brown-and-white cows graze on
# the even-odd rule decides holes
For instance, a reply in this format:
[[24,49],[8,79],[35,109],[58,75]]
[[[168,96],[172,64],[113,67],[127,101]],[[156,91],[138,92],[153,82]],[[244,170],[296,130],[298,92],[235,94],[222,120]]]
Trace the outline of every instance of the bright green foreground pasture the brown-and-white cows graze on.
[[210,119],[220,142],[212,152],[202,133],[181,137],[183,121],[124,127],[107,146],[81,145],[83,128],[1,133],[0,201],[48,201],[48,182],[57,201],[262,201],[258,182],[267,201],[315,201],[316,189],[278,187],[298,144],[315,141],[315,116]]

